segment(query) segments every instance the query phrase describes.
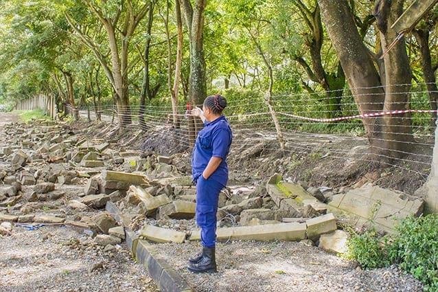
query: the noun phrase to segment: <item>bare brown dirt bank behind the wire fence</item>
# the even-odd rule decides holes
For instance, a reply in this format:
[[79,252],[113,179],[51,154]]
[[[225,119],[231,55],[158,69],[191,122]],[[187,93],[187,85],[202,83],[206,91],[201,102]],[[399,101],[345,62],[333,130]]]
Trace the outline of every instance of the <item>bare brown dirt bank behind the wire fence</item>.
[[[172,156],[182,171],[190,170],[192,149],[181,141],[181,131],[152,127],[142,131],[135,124],[120,129],[107,122],[85,121],[73,122],[69,128],[90,139],[106,139],[119,148]],[[427,179],[432,157],[432,149],[420,144],[402,162],[384,165],[373,159],[363,137],[287,132],[284,141],[285,149],[281,150],[273,132],[234,130],[228,158],[230,183],[264,183],[277,172],[290,181],[314,187],[339,190],[371,182],[414,194]]]

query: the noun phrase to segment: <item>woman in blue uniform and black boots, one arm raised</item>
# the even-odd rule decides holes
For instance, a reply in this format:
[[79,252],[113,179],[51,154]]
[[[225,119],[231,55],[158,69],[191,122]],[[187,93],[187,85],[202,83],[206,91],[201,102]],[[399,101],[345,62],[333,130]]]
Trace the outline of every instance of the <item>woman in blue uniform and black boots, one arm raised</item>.
[[204,128],[199,131],[192,155],[192,177],[196,184],[196,223],[200,227],[203,249],[189,258],[189,271],[214,273],[216,269],[216,212],[219,193],[227,185],[227,155],[232,133],[222,111],[227,100],[218,94],[205,99],[203,109],[192,109]]

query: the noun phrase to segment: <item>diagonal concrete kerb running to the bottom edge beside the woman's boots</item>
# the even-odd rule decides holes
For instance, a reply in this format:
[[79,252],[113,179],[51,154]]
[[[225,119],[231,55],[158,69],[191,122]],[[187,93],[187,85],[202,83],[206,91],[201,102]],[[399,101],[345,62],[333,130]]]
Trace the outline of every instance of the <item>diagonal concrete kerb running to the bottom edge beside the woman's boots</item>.
[[[117,206],[113,203],[107,203],[107,210],[110,209],[111,215],[119,221],[123,218]],[[172,267],[163,258],[159,258],[154,252],[154,247],[146,240],[139,239],[139,236],[130,229],[125,228],[126,245],[138,262],[145,267],[150,277],[163,292],[191,292],[192,289],[188,286],[181,276],[172,269]]]

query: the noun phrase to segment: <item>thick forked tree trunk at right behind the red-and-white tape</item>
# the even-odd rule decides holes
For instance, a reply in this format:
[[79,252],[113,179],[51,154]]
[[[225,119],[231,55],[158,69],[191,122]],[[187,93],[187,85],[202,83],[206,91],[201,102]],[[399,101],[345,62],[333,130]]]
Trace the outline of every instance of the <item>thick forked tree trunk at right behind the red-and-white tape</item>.
[[[391,24],[402,13],[403,2],[376,1],[373,14],[384,51],[397,38]],[[318,0],[318,3],[360,113],[408,109],[411,71],[404,40],[396,43],[384,56],[384,65],[380,68],[383,74],[380,75],[356,29],[348,1]],[[408,114],[403,116],[408,117]],[[386,115],[365,118],[362,122],[367,129],[371,151],[379,155],[380,160],[403,157],[413,145],[411,119],[394,119]]]

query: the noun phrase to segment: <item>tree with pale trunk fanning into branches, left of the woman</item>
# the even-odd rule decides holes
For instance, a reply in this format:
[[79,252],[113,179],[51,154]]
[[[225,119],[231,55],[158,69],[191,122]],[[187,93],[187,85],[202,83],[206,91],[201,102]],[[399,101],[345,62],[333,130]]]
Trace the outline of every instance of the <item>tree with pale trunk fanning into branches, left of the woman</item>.
[[140,21],[146,16],[149,3],[134,0],[82,0],[82,3],[104,27],[107,36],[106,43],[111,54],[110,60],[106,58],[106,52],[102,52],[101,44],[96,42],[95,36],[89,35],[89,33],[95,33],[96,30],[91,30],[90,27],[79,23],[69,12],[65,13],[66,19],[78,34],[80,41],[92,50],[102,65],[115,92],[119,123],[121,126],[126,126],[132,122],[128,91],[130,41]]

